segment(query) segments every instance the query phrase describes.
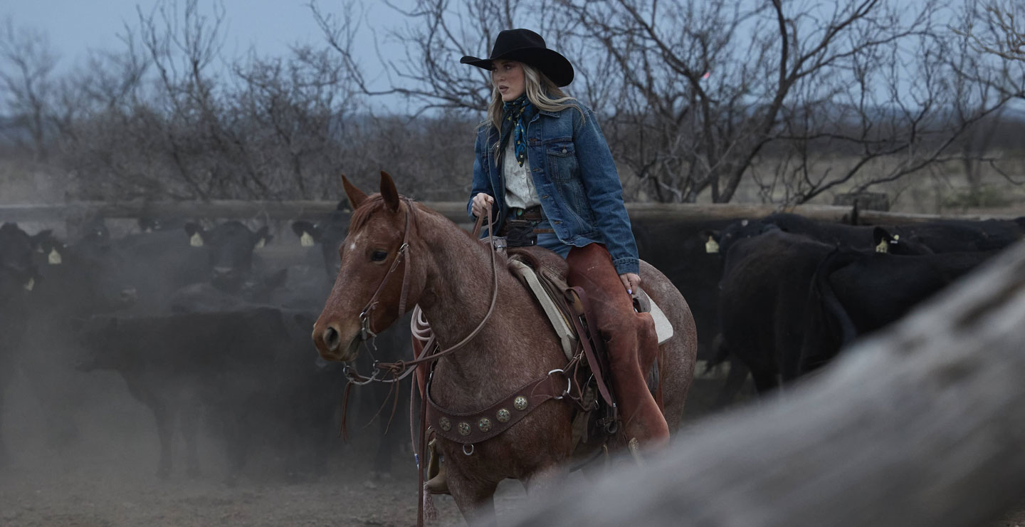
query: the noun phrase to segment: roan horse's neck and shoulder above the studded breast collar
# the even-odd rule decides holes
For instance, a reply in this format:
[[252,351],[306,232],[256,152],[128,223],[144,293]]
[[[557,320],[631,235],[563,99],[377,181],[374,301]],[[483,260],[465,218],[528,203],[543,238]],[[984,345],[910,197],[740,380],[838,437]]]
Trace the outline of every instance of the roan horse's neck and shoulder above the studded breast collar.
[[[425,294],[421,296],[420,308],[439,344],[445,349],[459,342],[484,320],[494,279],[486,245],[450,221],[436,217],[432,220],[438,225],[419,229],[427,260]],[[497,265],[498,297],[494,313],[463,349],[439,361],[435,375],[438,388],[449,384],[457,391],[480,391],[482,387],[511,390],[561,365],[558,363],[561,352],[554,334],[543,331],[542,326],[547,322],[506,270],[505,258],[498,256]],[[539,355],[538,349],[548,349],[551,353]],[[565,358],[562,362],[565,363]]]

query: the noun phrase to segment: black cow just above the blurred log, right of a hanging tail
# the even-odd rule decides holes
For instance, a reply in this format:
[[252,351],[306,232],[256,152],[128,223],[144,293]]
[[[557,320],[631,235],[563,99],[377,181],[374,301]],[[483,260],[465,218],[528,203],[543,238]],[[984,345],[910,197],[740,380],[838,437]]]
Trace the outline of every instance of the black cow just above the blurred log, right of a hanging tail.
[[858,336],[896,322],[996,252],[834,251],[819,265],[812,282],[798,374],[830,361]]

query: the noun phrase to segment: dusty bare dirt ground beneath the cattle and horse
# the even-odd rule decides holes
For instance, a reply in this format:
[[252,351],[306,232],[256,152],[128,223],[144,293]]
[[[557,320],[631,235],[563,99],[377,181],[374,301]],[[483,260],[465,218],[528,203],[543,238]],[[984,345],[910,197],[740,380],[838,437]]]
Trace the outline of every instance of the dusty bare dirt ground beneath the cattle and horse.
[[[367,453],[372,435],[350,444],[338,441],[329,473],[295,481],[285,475],[274,452],[247,467],[235,485],[222,482],[220,452],[201,445],[203,475],[187,477],[180,465],[164,481],[155,476],[157,438],[152,417],[119,391],[116,379],[91,378],[79,412],[78,438],[60,447],[47,446],[40,407],[24,379],[12,387],[4,411],[5,439],[11,467],[0,470],[0,525],[25,527],[199,527],[247,526],[409,526],[416,521],[416,471],[406,451],[395,457],[394,475],[370,476]],[[699,381],[687,420],[700,415],[717,384]],[[573,483],[581,478],[573,475]],[[463,525],[449,496],[435,496],[439,520],[434,525]],[[529,506],[522,486],[499,486],[499,524],[507,525]],[[1023,506],[1025,509],[1025,506]],[[1025,510],[982,527],[1025,526]]]

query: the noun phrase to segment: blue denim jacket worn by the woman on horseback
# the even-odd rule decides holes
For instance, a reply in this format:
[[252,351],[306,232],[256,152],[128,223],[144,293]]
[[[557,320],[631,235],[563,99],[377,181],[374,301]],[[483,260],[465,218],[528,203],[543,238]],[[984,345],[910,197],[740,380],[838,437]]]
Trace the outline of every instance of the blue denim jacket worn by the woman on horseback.
[[[617,274],[637,273],[637,243],[612,153],[593,112],[576,104],[584,111],[583,122],[580,112],[567,108],[560,112],[541,110],[527,125],[527,159],[537,197],[563,243],[578,247],[604,243]],[[483,192],[494,197],[495,229],[508,212],[501,160],[494,149],[497,141],[494,126],[485,123],[478,130],[474,188],[466,203],[466,213],[473,217],[474,196]]]

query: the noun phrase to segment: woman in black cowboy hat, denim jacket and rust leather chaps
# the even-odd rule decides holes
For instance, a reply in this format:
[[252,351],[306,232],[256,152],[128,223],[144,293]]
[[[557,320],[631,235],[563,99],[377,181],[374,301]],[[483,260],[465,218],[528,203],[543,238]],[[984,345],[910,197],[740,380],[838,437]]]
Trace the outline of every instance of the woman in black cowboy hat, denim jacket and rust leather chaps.
[[594,115],[560,89],[572,65],[524,29],[499,33],[490,57],[460,62],[491,71],[493,86],[467,211],[480,216],[491,204],[499,234],[532,228],[538,245],[566,257],[569,282],[587,291],[608,341],[626,439],[664,444],[668,427],[645,382],[658,353],[654,323],[630,299],[641,285],[637,243]]

